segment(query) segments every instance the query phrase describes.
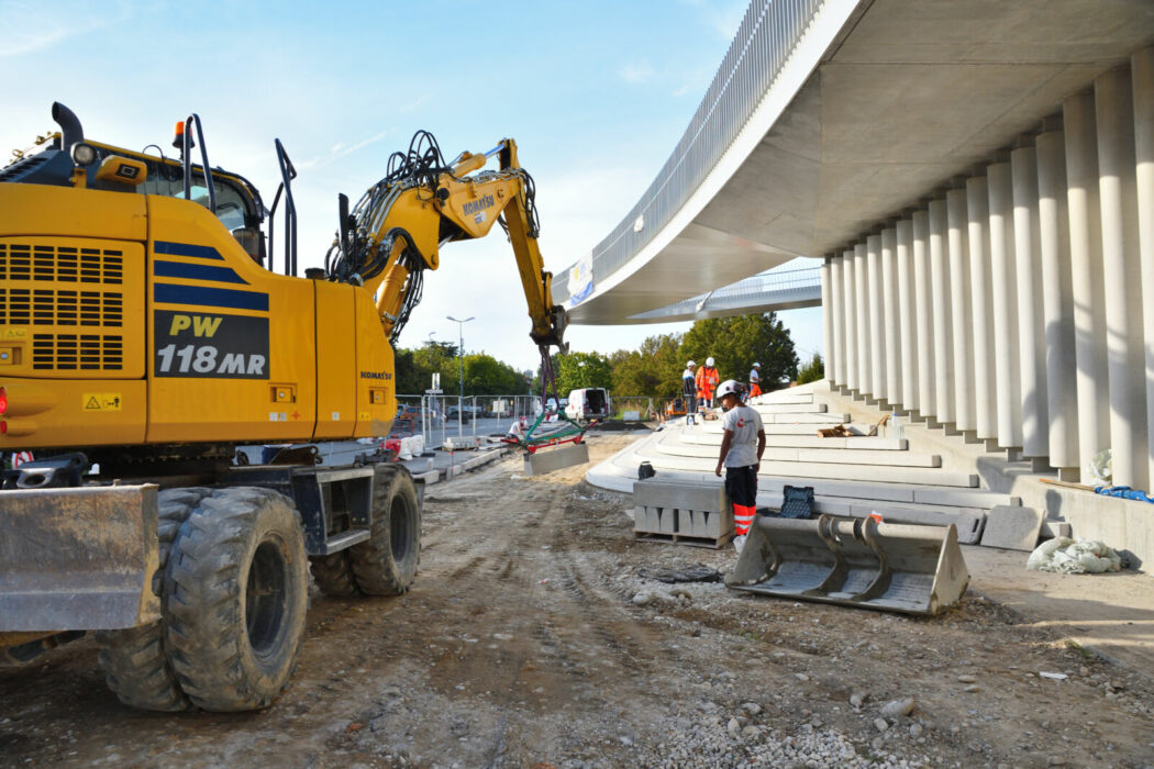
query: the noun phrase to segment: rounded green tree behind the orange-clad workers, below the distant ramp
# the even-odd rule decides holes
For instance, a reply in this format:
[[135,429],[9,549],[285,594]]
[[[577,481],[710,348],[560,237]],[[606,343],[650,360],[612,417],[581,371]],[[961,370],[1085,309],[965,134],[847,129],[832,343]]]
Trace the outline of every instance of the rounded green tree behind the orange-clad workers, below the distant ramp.
[[797,374],[793,339],[775,312],[697,321],[685,333],[681,353],[698,365],[712,356],[722,382],[744,382],[757,361],[766,390],[793,380]]

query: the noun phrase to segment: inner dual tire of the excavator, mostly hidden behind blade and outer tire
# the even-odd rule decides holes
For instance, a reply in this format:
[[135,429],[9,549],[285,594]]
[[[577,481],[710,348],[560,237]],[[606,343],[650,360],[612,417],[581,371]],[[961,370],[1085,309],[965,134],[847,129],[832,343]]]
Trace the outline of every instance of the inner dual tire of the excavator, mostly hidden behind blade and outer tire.
[[[209,493],[211,490],[203,488],[165,489],[157,497],[160,567],[153,578],[152,590],[162,596],[162,609],[164,572],[172,544],[181,525]],[[98,658],[105,681],[125,704],[164,713],[187,710],[192,706],[168,664],[163,619],[123,631],[98,631],[96,642],[100,644]]]

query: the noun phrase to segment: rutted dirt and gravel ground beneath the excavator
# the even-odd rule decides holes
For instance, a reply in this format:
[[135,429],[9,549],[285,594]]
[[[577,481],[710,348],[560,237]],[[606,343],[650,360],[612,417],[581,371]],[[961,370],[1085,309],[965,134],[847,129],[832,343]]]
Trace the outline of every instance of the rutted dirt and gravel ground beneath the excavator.
[[[593,438],[594,461],[625,440]],[[268,710],[129,710],[83,640],[0,668],[0,764],[1154,764],[1149,679],[1051,628],[972,594],[909,619],[647,580],[735,556],[634,542],[585,468],[519,470],[429,488],[410,594],[314,594]],[[904,698],[908,716],[883,716]]]

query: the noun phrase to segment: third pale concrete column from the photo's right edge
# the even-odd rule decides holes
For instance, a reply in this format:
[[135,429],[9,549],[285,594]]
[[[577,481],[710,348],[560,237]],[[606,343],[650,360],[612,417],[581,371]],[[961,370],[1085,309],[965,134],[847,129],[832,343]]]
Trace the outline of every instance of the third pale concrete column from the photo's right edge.
[[1074,292],[1074,354],[1078,360],[1078,457],[1084,483],[1089,461],[1110,446],[1110,394],[1106,357],[1106,288],[1097,204],[1097,128],[1094,97],[1062,103],[1066,146],[1066,210]]

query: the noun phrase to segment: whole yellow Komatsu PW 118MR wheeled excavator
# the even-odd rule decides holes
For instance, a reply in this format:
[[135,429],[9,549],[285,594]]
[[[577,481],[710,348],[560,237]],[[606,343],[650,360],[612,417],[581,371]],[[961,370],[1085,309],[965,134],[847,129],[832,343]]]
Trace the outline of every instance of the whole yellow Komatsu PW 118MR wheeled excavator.
[[420,131],[351,210],[339,197],[324,267],[301,278],[279,140],[267,211],[210,166],[196,115],[167,158],[87,141],[60,104],[52,114],[60,130],[0,171],[0,452],[37,457],[0,491],[0,649],[21,659],[95,631],[130,706],[264,707],[297,662],[306,564],[330,595],[404,593],[424,491],[369,457],[319,467],[307,446],[245,466],[237,446],[385,435],[392,344],[426,271],[494,224],[548,382],[565,312],[533,181],[512,140],[447,163]]

